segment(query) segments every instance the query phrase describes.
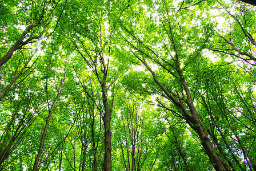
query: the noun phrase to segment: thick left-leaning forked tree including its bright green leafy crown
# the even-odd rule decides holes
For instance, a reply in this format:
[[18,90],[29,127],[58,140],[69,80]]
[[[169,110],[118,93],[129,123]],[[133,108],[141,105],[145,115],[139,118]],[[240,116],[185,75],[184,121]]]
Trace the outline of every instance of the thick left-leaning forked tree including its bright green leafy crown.
[[[187,75],[188,73],[191,73],[189,68],[191,67],[192,70],[194,70],[194,68],[199,68],[200,63],[197,62],[198,59],[203,63],[201,51],[206,46],[207,42],[209,42],[208,39],[211,36],[213,25],[201,25],[201,23],[198,23],[198,26],[200,27],[201,25],[207,34],[201,38],[198,38],[198,35],[195,35],[193,38],[191,32],[183,27],[183,22],[187,22],[187,17],[186,20],[182,20],[182,16],[190,15],[195,17],[195,15],[187,14],[189,12],[183,11],[183,8],[181,7],[177,11],[175,11],[175,9],[174,11],[169,10],[171,9],[169,4],[170,3],[166,1],[155,2],[152,5],[152,9],[147,9],[147,11],[157,11],[157,15],[159,17],[157,21],[159,21],[159,24],[152,18],[144,17],[145,15],[143,15],[141,19],[138,19],[139,22],[137,25],[133,25],[125,21],[125,19],[121,20],[123,30],[127,32],[126,36],[123,36],[123,39],[130,44],[133,55],[137,56],[137,59],[150,72],[154,82],[158,84],[162,91],[159,92],[159,94],[164,96],[166,99],[169,99],[174,106],[180,110],[177,112],[180,113],[179,117],[186,120],[190,127],[197,132],[203,148],[205,148],[214,168],[216,170],[230,170],[226,162],[213,148],[214,142],[210,141],[207,135],[207,129],[204,128],[201,122],[202,119],[194,105],[194,99],[196,99],[197,96],[195,93],[194,95],[191,93],[193,91],[190,89],[193,89],[193,84],[187,82],[187,79],[193,80],[191,76]],[[154,9],[156,5],[158,5],[157,10]],[[182,5],[185,5],[185,3],[182,2]],[[139,9],[139,13],[143,13],[143,9]],[[171,18],[171,14],[173,14],[173,16],[175,15],[175,18]],[[201,19],[201,21],[204,22],[203,19]],[[137,22],[136,19],[135,22]],[[140,31],[135,30],[133,26]],[[153,27],[159,28],[159,31],[153,30]],[[142,32],[142,30],[146,30],[148,33],[150,32],[149,35],[154,36],[141,35],[139,32]],[[194,28],[193,31],[195,32],[195,30],[196,29]],[[160,32],[161,34],[159,34]],[[190,35],[187,35],[188,33],[190,33]],[[162,36],[163,34],[166,36]],[[127,39],[127,36],[130,36],[130,38]],[[155,37],[157,37],[157,39]],[[189,50],[190,47],[183,43],[183,37],[193,39],[192,41],[195,46],[193,50],[195,51],[194,53],[189,54],[185,52],[185,50]],[[180,41],[181,39],[183,41]],[[157,46],[160,46],[159,48],[166,51],[165,54],[161,53],[161,51],[159,52],[159,50],[157,50]],[[183,50],[181,50],[182,48]],[[149,62],[158,64],[158,66],[161,67],[162,72],[153,71],[148,64]],[[170,86],[170,83],[166,84],[166,80],[163,79],[163,73],[178,85]]]

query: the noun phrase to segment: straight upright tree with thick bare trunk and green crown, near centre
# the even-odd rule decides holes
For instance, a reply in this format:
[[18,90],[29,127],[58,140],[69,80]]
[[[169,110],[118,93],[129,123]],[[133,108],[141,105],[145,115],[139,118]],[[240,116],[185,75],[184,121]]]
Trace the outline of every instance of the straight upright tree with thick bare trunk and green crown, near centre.
[[[92,2],[81,9],[79,2],[73,2],[71,13],[66,14],[66,18],[71,18],[69,23],[70,29],[74,28],[69,39],[72,41],[72,46],[79,55],[78,58],[85,60],[88,70],[91,70],[96,78],[98,86],[101,87],[102,103],[101,117],[105,129],[105,156],[103,170],[112,170],[111,166],[111,113],[113,111],[113,102],[115,95],[115,82],[118,79],[121,67],[115,66],[113,58],[115,51],[112,48],[114,32],[117,29],[117,21],[111,13],[115,9],[116,4],[111,2]],[[103,10],[103,9],[106,9]],[[101,9],[101,13],[98,13]],[[78,11],[80,16],[72,15],[74,10]],[[81,11],[82,10],[82,11]],[[90,10],[88,17],[85,17]],[[82,18],[80,18],[82,16]],[[93,21],[93,22],[92,22]],[[80,23],[79,27],[77,22]],[[90,30],[89,30],[90,28]],[[66,29],[66,28],[65,28]],[[85,30],[87,30],[85,32]],[[113,54],[113,56],[112,56]],[[115,71],[115,67],[118,67]],[[86,89],[86,87],[84,87]],[[86,92],[86,90],[85,90]],[[111,94],[111,96],[109,95]],[[90,96],[93,99],[92,96]],[[98,104],[95,104],[98,105]]]

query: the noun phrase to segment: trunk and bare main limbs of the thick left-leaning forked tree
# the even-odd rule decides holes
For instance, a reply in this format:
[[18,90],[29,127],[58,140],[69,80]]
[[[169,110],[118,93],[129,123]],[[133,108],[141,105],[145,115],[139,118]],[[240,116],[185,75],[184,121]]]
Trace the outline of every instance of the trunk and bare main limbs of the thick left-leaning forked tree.
[[[149,46],[149,41],[146,41],[145,39],[139,38],[134,32],[131,30],[131,28],[127,28],[128,26],[123,26],[123,29],[133,38],[138,44],[134,45],[130,41],[127,41],[131,44],[131,47],[134,48],[137,52],[133,52],[135,56],[137,56],[138,60],[147,68],[147,70],[152,75],[154,82],[157,83],[159,88],[162,90],[162,95],[166,97],[166,99],[169,99],[177,109],[181,111],[182,118],[186,120],[186,122],[190,125],[191,128],[194,129],[195,132],[197,132],[203,148],[206,150],[206,154],[209,156],[211,163],[213,164],[214,168],[216,170],[229,170],[227,164],[225,161],[222,160],[222,158],[218,155],[218,153],[213,148],[213,144],[211,144],[211,141],[209,137],[207,136],[207,132],[205,131],[205,128],[203,128],[203,125],[201,123],[200,117],[198,115],[197,109],[195,108],[194,103],[194,97],[191,95],[191,91],[189,88],[189,85],[186,81],[186,76],[183,74],[186,72],[186,70],[189,70],[189,67],[187,67],[190,62],[193,61],[193,59],[200,58],[199,54],[202,51],[203,47],[205,46],[207,42],[207,37],[209,35],[205,35],[206,38],[199,39],[198,43],[202,43],[201,47],[197,47],[196,53],[187,55],[183,53],[183,51],[180,50],[181,47],[187,48],[182,43],[179,43],[177,39],[182,34],[186,35],[186,32],[181,32],[181,27],[179,26],[179,22],[176,21],[176,19],[170,18],[169,14],[172,11],[169,11],[170,7],[167,5],[167,2],[162,2],[159,5],[162,5],[161,9],[159,10],[159,20],[161,21],[162,25],[159,25],[159,31],[164,32],[166,34],[166,38],[163,38],[162,35],[159,35],[159,43],[163,44],[164,50],[166,50],[166,56],[170,56],[169,60],[166,61],[166,59],[163,59],[163,55],[159,54],[154,51]],[[182,13],[182,12],[181,12]],[[167,14],[167,15],[165,15]],[[178,15],[176,13],[176,15]],[[145,18],[145,22],[150,22],[147,18]],[[172,22],[172,23],[171,23]],[[173,22],[176,22],[177,24],[174,25]],[[151,25],[155,25],[154,22],[151,22]],[[150,28],[150,26],[148,26]],[[143,29],[143,28],[142,28]],[[210,30],[210,26],[206,26],[205,29]],[[149,30],[154,31],[154,30]],[[158,35],[158,32],[155,32],[152,35]],[[147,38],[148,39],[148,38]],[[155,39],[155,38],[153,38]],[[152,41],[152,40],[151,40]],[[167,43],[165,43],[166,41]],[[147,43],[147,44],[146,44]],[[167,45],[168,44],[168,45]],[[171,54],[171,51],[175,52],[175,55]],[[186,58],[187,56],[187,58]],[[168,76],[173,78],[173,80],[177,80],[179,87],[175,87],[176,89],[168,89],[159,79],[157,78],[157,75],[155,72],[151,69],[149,66],[147,60],[151,60],[159,65],[159,67],[162,67],[163,71],[166,71]],[[181,61],[188,61],[185,63],[185,67],[181,67]],[[166,63],[169,66],[166,66]],[[168,67],[168,68],[167,68]],[[186,68],[187,67],[187,68]],[[183,93],[184,92],[184,93]]]

